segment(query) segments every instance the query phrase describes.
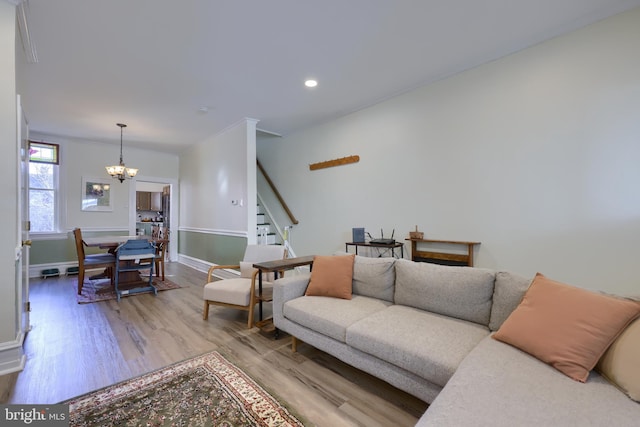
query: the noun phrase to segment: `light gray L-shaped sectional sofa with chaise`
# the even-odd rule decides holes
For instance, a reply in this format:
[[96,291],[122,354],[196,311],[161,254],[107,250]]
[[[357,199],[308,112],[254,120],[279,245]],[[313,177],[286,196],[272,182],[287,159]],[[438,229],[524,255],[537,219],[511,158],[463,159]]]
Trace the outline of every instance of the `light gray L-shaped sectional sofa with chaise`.
[[274,283],[275,326],[430,403],[419,426],[639,425],[595,371],[579,383],[491,338],[529,279],[361,256],[350,300],[305,296],[309,278]]

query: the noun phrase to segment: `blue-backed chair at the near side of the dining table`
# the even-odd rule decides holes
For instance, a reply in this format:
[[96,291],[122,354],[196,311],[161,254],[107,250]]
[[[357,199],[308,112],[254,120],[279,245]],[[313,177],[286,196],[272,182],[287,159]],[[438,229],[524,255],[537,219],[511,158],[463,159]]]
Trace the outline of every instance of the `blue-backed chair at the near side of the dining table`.
[[[118,296],[118,301],[122,295],[136,294],[139,292],[152,291],[154,294],[158,294],[158,290],[153,286],[153,267],[156,260],[156,247],[148,240],[131,239],[126,243],[118,246],[116,249],[116,273],[115,273],[115,290]],[[120,288],[120,273],[137,272],[140,270],[149,270],[149,280],[144,281],[146,285]],[[141,277],[142,278],[142,277]],[[143,282],[144,283],[144,282]]]

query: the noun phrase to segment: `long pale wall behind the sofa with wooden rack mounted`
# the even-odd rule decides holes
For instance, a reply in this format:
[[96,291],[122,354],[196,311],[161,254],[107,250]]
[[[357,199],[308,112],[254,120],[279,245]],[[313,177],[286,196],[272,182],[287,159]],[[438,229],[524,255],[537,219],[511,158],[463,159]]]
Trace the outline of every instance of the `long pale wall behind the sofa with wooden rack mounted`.
[[640,294],[639,50],[635,9],[261,142],[300,220],[296,253],[344,250],[352,227],[402,240],[417,224],[482,242],[476,266]]

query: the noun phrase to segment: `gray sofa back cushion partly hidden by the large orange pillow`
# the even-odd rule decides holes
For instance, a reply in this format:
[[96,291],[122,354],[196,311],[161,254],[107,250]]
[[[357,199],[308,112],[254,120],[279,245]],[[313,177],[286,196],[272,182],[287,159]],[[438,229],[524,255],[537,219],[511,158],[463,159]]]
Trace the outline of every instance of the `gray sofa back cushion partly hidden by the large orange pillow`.
[[493,289],[493,305],[489,329],[497,331],[502,322],[516,309],[525,292],[529,289],[531,279],[527,279],[508,271],[496,273],[496,284]]

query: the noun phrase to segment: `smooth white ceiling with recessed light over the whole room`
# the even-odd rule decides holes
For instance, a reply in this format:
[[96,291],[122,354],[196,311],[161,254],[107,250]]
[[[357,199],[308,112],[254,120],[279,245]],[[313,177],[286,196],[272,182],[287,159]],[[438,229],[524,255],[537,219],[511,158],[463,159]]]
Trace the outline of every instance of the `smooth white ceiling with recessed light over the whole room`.
[[[29,0],[32,132],[180,152],[245,117],[287,135],[640,0]],[[304,86],[307,78],[319,82]],[[207,112],[201,111],[206,107]]]

